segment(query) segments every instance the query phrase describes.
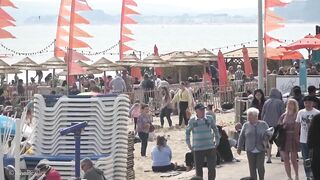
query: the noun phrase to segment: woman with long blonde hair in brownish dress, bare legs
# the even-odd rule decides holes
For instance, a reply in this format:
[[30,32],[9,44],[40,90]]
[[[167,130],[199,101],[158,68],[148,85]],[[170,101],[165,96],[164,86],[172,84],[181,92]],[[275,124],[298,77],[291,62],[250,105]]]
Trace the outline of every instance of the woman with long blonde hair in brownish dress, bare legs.
[[284,160],[284,167],[289,180],[292,180],[290,162],[292,163],[296,175],[295,180],[299,179],[297,152],[299,151],[300,126],[296,122],[298,111],[298,102],[295,99],[290,98],[287,102],[286,112],[282,114],[279,119],[279,124],[284,131],[283,143],[280,145],[279,149]]

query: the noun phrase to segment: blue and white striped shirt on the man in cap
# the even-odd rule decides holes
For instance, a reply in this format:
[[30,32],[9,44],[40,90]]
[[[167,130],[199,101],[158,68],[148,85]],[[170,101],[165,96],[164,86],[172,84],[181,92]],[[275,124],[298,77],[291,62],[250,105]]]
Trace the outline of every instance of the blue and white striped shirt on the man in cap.
[[193,117],[189,120],[186,129],[186,142],[191,145],[190,134],[192,132],[193,151],[213,149],[219,145],[220,134],[215,122],[216,120],[209,115],[203,119]]

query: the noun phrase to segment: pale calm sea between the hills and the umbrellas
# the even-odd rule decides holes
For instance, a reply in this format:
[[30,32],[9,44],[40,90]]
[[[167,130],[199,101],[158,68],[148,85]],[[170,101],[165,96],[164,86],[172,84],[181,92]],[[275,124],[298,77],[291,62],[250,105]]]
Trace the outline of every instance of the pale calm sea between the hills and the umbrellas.
[[[92,51],[101,51],[116,44],[119,40],[119,26],[116,25],[90,25],[82,26],[91,35],[92,39],[86,39],[92,47]],[[216,24],[216,25],[135,25],[131,29],[134,32],[135,42],[130,46],[143,52],[152,52],[154,44],[157,44],[160,53],[177,50],[197,51],[202,48],[213,49],[217,47],[239,44],[257,39],[256,24]],[[54,25],[17,26],[8,29],[17,39],[2,40],[1,43],[20,52],[33,52],[48,45],[55,38],[56,27]],[[271,33],[277,38],[296,40],[308,33],[314,33],[314,24],[288,24],[285,28]],[[248,46],[255,46],[250,44]],[[222,49],[223,52],[231,51],[238,47]],[[51,49],[51,51],[53,48]],[[113,49],[117,53],[118,49]],[[303,52],[303,51],[302,51]],[[0,49],[0,53],[8,53]],[[53,52],[31,56],[37,63],[44,62],[53,56]],[[90,56],[92,62],[105,56],[111,60],[118,60],[118,55]],[[142,58],[146,54],[142,54]],[[9,64],[22,59],[23,56],[6,58]],[[34,76],[34,72],[30,72]],[[25,77],[24,73],[19,75]],[[12,76],[9,76],[11,79]]]

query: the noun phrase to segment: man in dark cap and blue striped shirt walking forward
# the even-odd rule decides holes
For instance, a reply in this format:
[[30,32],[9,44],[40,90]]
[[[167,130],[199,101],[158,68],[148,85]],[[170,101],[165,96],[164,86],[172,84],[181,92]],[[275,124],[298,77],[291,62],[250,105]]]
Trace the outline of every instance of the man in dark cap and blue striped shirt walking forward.
[[[189,120],[186,129],[186,142],[191,151],[194,153],[194,162],[196,167],[196,175],[203,177],[203,163],[207,159],[208,179],[216,178],[216,148],[220,142],[220,134],[216,126],[216,120],[205,115],[206,107],[203,104],[197,104],[194,107],[196,116]],[[190,142],[190,134],[192,132],[192,145]]]

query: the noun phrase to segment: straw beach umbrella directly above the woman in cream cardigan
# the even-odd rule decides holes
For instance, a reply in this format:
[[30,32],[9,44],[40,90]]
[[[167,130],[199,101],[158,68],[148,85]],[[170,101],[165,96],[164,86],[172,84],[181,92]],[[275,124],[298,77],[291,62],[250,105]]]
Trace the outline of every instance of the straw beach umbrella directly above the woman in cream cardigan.
[[179,71],[179,81],[181,81],[181,67],[185,66],[201,66],[200,62],[194,60],[195,56],[186,56],[184,52],[175,52],[171,55],[170,59],[167,61],[178,67]]

